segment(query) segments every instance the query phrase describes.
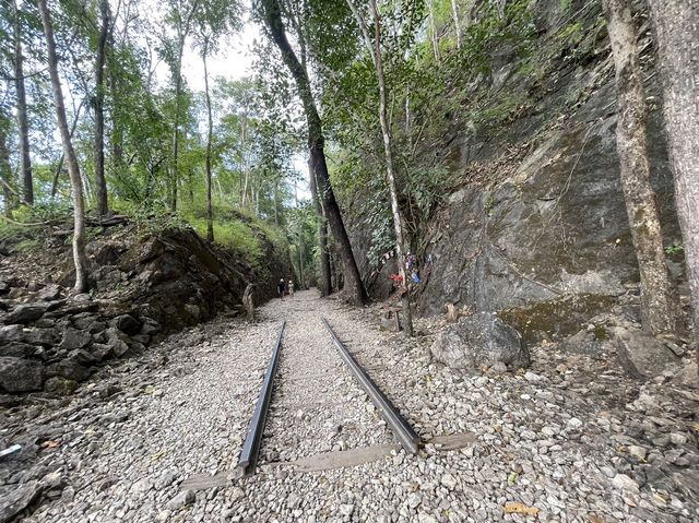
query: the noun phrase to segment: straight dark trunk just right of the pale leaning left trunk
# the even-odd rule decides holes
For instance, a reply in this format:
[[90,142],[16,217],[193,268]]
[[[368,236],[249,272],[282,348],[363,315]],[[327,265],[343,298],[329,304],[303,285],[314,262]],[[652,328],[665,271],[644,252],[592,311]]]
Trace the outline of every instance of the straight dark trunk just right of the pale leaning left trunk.
[[95,188],[97,215],[109,212],[107,202],[107,181],[105,179],[105,57],[107,34],[109,32],[109,2],[99,1],[102,27],[97,41],[97,59],[95,61]]

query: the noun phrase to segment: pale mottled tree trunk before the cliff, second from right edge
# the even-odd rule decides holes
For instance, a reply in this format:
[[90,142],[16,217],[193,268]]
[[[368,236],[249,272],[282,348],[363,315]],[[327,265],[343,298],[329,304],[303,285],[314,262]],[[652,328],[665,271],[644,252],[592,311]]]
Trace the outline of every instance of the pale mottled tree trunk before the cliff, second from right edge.
[[652,333],[678,326],[679,302],[663,249],[657,204],[645,150],[645,97],[628,0],[604,0],[619,105],[617,150],[621,188],[641,276],[643,326]]

